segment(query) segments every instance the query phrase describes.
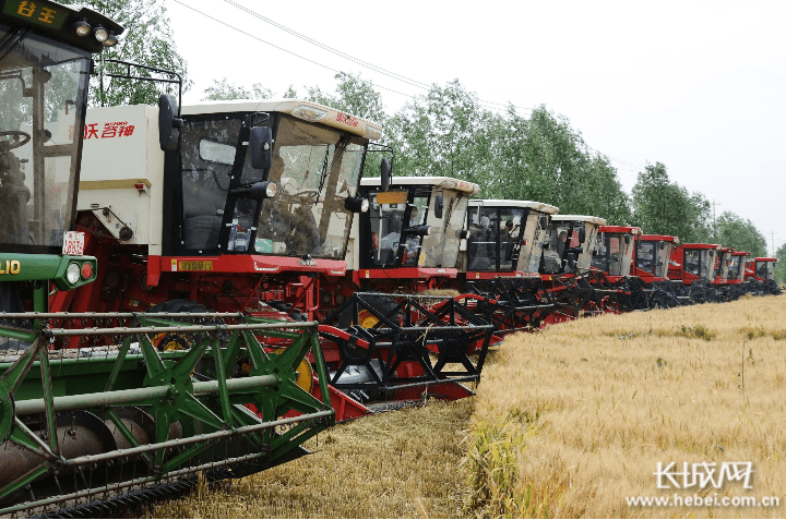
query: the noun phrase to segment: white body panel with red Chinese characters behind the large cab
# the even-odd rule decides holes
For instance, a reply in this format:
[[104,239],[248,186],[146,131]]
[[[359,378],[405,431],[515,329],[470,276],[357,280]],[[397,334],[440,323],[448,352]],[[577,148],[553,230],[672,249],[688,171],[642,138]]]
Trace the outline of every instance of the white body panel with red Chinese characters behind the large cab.
[[[142,189],[135,188],[139,184]],[[128,226],[133,235],[123,243],[147,245],[148,254],[159,255],[163,185],[158,108],[87,110],[78,210],[92,210],[118,240]]]

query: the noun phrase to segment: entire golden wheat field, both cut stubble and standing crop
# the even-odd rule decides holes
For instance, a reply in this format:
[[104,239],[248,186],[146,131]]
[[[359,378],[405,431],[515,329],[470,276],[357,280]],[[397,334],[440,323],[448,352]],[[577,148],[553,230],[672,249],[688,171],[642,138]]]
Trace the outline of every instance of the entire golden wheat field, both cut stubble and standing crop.
[[[143,518],[781,517],[629,496],[786,503],[786,295],[603,315],[509,337],[472,399],[341,424],[314,455]],[[750,461],[752,488],[657,489],[658,462]]]

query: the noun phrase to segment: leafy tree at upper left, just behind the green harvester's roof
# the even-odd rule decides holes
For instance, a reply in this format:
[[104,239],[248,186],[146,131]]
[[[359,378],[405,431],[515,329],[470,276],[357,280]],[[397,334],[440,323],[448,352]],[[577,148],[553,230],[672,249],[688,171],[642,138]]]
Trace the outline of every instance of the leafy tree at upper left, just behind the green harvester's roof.
[[[96,63],[96,76],[92,78],[91,86],[92,106],[156,105],[162,93],[177,94],[177,87],[169,84],[107,76],[102,78],[102,72],[119,74],[128,72],[126,66],[105,63],[107,59],[176,72],[182,77],[183,90],[188,90],[191,83],[187,77],[186,60],[177,52],[176,38],[169,26],[166,8],[160,0],[61,0],[61,3],[87,5],[126,28],[118,45],[105,49],[100,61]],[[131,75],[171,77],[133,68]],[[103,92],[99,89],[102,81]]]

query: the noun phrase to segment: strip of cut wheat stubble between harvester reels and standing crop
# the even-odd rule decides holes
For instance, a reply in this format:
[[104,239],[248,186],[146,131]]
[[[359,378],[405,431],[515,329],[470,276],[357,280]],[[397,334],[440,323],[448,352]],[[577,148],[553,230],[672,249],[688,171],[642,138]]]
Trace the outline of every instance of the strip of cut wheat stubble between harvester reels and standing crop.
[[444,518],[464,501],[457,471],[474,399],[380,413],[308,443],[315,451],[229,485],[199,486],[143,518]]

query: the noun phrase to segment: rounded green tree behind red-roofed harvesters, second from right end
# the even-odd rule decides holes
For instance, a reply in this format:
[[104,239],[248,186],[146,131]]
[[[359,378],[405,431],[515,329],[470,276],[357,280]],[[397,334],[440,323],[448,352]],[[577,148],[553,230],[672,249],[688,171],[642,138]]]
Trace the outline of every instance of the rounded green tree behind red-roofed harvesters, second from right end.
[[645,233],[679,237],[683,243],[711,239],[710,202],[671,182],[666,167],[656,162],[639,173],[633,186],[633,221]]

